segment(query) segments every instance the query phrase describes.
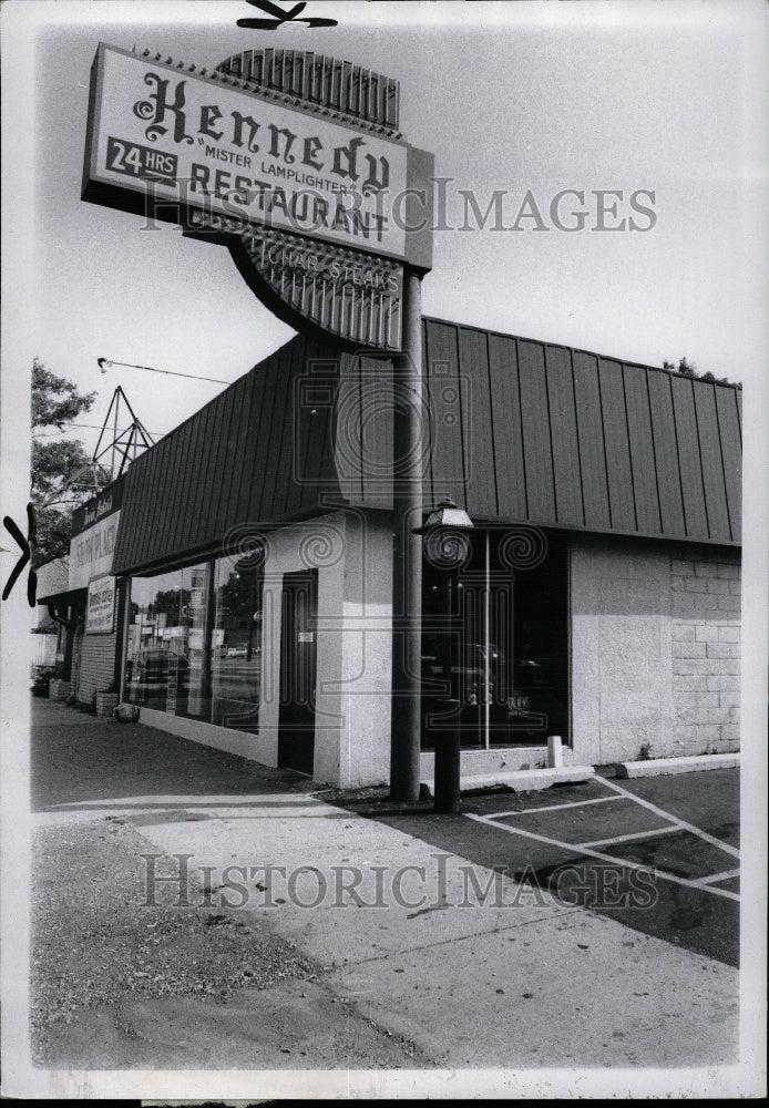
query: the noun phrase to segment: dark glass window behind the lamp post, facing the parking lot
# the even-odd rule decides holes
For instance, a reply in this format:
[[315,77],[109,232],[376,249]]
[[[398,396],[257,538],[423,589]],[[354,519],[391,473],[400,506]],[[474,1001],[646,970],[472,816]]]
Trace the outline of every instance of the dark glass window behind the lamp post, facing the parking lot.
[[551,534],[541,557],[513,568],[510,536],[503,527],[476,529],[472,556],[451,581],[424,564],[425,748],[444,729],[458,729],[463,747],[544,745],[548,735],[567,740],[565,544]]

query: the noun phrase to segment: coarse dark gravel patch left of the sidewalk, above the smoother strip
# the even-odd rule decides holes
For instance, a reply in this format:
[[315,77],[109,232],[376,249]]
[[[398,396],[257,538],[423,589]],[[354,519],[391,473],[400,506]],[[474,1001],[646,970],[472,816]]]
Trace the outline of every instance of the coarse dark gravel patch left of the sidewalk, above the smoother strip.
[[[32,931],[32,1038],[81,1007],[126,997],[211,996],[266,988],[315,970],[243,913],[142,907],[140,858],[150,848],[120,817],[39,830]],[[162,862],[158,863],[161,872]],[[175,896],[175,886],[158,885]]]

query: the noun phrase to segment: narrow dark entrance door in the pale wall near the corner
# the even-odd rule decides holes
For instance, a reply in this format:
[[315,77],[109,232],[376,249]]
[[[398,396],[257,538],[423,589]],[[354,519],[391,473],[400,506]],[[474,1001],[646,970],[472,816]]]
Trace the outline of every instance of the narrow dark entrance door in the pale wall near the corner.
[[312,776],[318,571],[287,573],[280,609],[278,766]]

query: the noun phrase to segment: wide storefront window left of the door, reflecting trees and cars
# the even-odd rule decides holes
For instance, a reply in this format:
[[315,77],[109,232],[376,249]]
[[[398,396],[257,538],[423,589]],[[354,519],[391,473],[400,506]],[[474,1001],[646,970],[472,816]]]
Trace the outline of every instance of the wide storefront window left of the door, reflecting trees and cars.
[[262,675],[262,573],[219,558],[133,577],[123,698],[256,730]]

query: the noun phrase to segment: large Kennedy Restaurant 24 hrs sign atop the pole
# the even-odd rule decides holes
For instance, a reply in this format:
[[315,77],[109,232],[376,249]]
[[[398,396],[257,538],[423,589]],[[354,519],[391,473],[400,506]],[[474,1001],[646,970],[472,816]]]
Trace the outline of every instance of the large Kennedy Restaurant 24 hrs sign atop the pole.
[[101,43],[82,195],[225,243],[291,326],[399,349],[402,263],[432,260],[432,156],[393,120],[397,82],[335,59],[250,51],[206,74]]

